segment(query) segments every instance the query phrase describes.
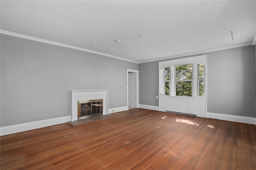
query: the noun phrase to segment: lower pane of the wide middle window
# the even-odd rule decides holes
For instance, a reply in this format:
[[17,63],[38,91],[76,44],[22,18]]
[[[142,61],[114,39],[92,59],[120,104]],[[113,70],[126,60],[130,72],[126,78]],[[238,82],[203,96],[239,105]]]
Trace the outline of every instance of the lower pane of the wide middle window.
[[176,82],[176,96],[192,96],[192,82]]

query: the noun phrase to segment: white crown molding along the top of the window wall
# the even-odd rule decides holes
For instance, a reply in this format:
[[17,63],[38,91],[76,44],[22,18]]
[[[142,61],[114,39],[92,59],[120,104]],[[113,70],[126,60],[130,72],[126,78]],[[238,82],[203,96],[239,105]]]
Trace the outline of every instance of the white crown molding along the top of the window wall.
[[[254,40],[254,42],[255,42],[255,40]],[[169,57],[163,57],[163,58],[159,58],[159,59],[140,61],[139,64],[140,63],[148,63],[148,62],[152,62],[152,61],[174,59],[174,58],[177,58],[177,57],[184,57],[184,56],[188,56],[188,55],[197,55],[197,54],[200,54],[200,53],[209,53],[209,52],[213,52],[213,51],[232,49],[232,48],[236,48],[236,47],[244,47],[244,46],[247,46],[247,45],[252,45],[252,43],[244,43],[244,44],[238,44],[238,45],[231,45],[231,46],[221,47],[221,48],[216,48],[216,49],[209,49],[209,50],[204,50],[204,51],[195,51],[195,52],[192,52],[192,53],[185,53],[185,54],[180,54],[180,55],[173,55],[173,56],[169,56]]]

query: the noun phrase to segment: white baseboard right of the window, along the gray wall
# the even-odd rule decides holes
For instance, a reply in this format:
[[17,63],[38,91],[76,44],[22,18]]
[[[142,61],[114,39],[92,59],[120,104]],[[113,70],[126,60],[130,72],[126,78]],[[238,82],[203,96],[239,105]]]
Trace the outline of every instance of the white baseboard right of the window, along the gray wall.
[[211,118],[211,119],[235,121],[235,122],[240,122],[240,123],[248,123],[248,124],[256,125],[256,118],[255,117],[226,115],[226,114],[210,113],[210,112],[206,113],[206,117]]

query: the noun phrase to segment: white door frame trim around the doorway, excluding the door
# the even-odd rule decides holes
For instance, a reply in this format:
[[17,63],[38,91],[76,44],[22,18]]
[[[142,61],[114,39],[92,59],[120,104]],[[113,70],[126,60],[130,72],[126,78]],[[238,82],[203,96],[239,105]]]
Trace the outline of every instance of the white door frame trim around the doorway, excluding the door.
[[127,102],[127,110],[129,107],[129,95],[128,95],[128,89],[129,89],[129,72],[134,72],[134,107],[139,107],[139,71],[138,70],[131,70],[127,69],[127,80],[126,80],[126,102]]

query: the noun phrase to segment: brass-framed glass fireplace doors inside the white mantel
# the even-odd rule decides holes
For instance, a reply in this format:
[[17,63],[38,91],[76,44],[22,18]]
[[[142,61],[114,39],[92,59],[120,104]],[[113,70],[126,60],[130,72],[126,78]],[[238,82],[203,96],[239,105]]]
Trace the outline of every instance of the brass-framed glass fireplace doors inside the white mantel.
[[77,102],[78,119],[103,115],[103,99],[80,100]]

